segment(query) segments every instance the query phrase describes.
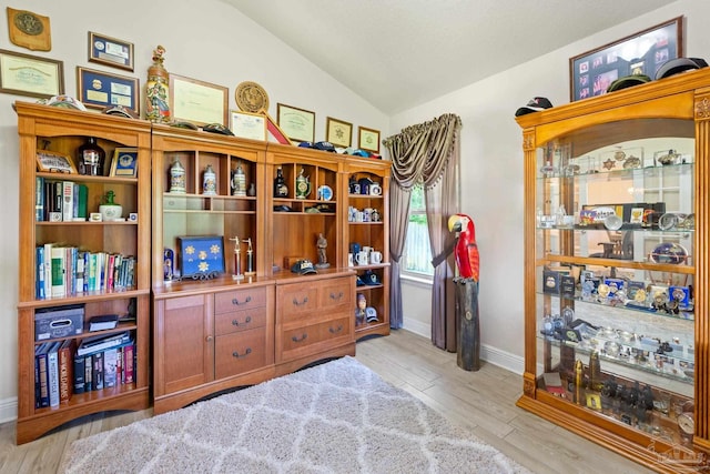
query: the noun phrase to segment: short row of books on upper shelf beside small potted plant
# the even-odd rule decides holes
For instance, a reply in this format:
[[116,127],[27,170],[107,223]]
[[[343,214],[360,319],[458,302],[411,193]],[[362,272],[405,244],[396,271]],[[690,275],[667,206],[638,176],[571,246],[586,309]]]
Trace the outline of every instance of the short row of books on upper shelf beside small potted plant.
[[50,181],[37,177],[36,219],[42,221],[85,221],[89,188],[73,181]]

